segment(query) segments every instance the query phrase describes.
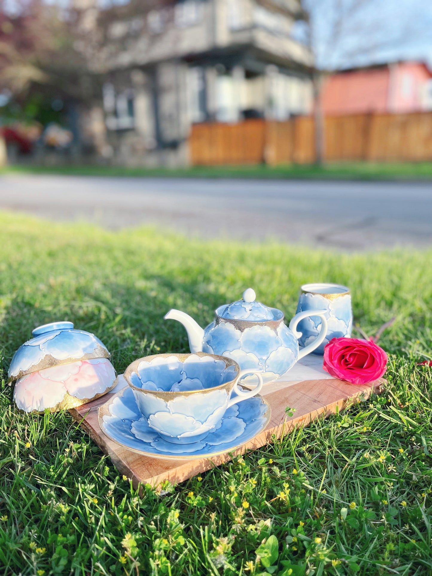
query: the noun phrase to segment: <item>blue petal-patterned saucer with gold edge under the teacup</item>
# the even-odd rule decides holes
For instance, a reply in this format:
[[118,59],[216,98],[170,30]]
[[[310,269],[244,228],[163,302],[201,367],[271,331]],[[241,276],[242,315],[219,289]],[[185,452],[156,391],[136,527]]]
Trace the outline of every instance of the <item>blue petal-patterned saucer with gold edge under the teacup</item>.
[[164,460],[190,460],[234,452],[266,429],[270,416],[271,408],[267,400],[259,395],[253,396],[228,408],[217,429],[201,441],[172,444],[150,428],[139,412],[134,393],[129,387],[98,408],[99,426],[108,438],[143,456]]

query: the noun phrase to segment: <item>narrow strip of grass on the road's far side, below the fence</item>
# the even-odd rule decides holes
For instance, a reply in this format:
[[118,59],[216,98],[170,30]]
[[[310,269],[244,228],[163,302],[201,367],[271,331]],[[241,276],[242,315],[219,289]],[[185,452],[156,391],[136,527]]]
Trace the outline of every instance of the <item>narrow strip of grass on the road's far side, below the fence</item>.
[[191,178],[263,178],[317,180],[432,180],[432,162],[329,162],[322,166],[194,166],[126,168],[122,166],[9,166],[3,173],[74,176],[149,176]]

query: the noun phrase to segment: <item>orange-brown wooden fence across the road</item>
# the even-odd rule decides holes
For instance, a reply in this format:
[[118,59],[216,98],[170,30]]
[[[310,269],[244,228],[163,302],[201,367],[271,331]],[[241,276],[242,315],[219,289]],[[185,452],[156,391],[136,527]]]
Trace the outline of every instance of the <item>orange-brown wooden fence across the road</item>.
[[[432,112],[329,116],[324,127],[327,161],[432,160]],[[191,164],[309,164],[316,159],[314,134],[310,116],[195,124]]]

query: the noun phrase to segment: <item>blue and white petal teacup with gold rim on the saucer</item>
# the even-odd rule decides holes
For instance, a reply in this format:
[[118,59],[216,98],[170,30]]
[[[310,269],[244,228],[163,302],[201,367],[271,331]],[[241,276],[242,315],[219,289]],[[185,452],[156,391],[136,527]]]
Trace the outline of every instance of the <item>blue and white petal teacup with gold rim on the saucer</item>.
[[139,358],[124,378],[151,428],[173,444],[192,444],[217,429],[230,406],[260,392],[259,373],[256,388],[243,392],[238,387],[241,378],[255,373],[240,370],[231,358],[198,352]]

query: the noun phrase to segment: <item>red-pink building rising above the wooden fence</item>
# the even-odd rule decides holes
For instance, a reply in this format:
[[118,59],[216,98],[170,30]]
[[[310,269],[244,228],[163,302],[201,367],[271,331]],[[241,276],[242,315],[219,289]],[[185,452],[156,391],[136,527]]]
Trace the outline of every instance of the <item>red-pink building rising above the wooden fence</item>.
[[432,110],[432,71],[422,62],[395,62],[340,71],[324,85],[327,116]]

